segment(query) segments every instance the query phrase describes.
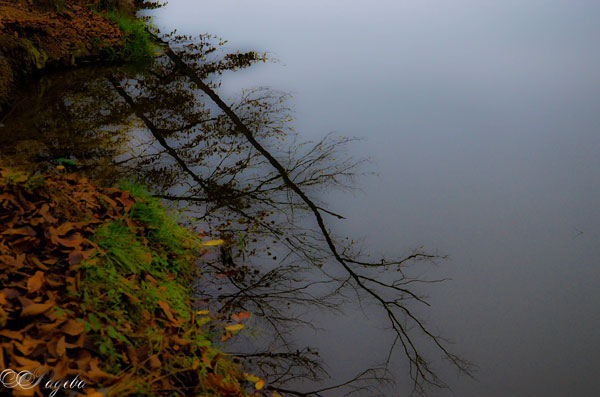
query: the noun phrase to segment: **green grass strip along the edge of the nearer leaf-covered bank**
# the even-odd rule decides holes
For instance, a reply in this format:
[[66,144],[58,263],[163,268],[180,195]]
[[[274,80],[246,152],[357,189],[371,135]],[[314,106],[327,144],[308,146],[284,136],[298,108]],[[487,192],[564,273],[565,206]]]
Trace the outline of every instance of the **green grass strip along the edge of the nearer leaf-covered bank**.
[[[123,376],[131,360],[121,352],[129,347],[130,351],[153,353],[150,357],[154,366],[160,363],[161,374],[188,371],[188,381],[196,384],[202,395],[222,395],[215,385],[206,384],[213,371],[221,375],[221,383],[239,390],[236,378],[240,373],[230,361],[219,360],[222,354],[211,347],[202,328],[210,318],[198,317],[191,309],[189,285],[201,241],[178,226],[176,218],[139,185],[127,184],[123,188],[135,202],[122,219],[106,223],[94,232],[91,241],[100,248],[99,254],[80,269],[82,303],[88,313],[84,320],[86,330],[106,331],[95,340],[95,345],[107,372]],[[147,320],[157,310],[168,321],[163,326],[150,326],[152,322]],[[169,339],[182,346],[170,349]],[[195,375],[190,378],[192,368]],[[154,379],[147,376],[146,369],[128,375],[136,379],[135,386],[115,385],[119,395],[153,395]]]

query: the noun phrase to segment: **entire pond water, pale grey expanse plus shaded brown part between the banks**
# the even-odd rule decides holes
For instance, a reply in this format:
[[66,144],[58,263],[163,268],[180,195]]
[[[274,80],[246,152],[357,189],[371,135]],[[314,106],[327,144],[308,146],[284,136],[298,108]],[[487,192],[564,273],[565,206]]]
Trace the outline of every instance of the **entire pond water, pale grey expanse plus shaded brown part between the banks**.
[[[417,285],[432,306],[411,308],[478,371],[475,380],[457,377],[438,359],[438,350],[423,344],[451,386],[428,389],[430,394],[588,396],[600,393],[598,11],[592,2],[311,0],[178,1],[153,14],[159,27],[217,34],[229,40],[232,51],[267,51],[279,59],[232,73],[233,66],[247,66],[238,59],[221,68],[220,79],[210,75],[209,80],[286,166],[311,160],[296,169],[299,178],[323,170],[339,174],[343,164],[372,158],[356,171],[378,176],[358,178],[360,191],[334,189],[335,181],[326,178],[305,186],[311,197],[346,217],[326,218],[337,235],[363,237],[364,251],[375,259],[402,257],[421,246],[449,255],[407,269],[423,279],[451,279]],[[165,65],[154,70],[169,75]],[[210,233],[247,244],[243,250],[240,244],[233,247],[234,260],[261,273],[223,264],[218,271],[230,272],[241,285],[271,274],[273,281],[256,290],[262,294],[281,296],[307,280],[320,280],[318,272],[292,261],[283,262],[280,273],[269,273],[281,263],[285,249],[277,245],[285,237],[307,231],[298,241],[320,247],[311,234],[314,221],[301,215],[302,204],[290,201],[276,179],[260,184],[275,174],[232,134],[214,104],[192,92],[183,78],[166,80],[90,69],[39,82],[23,91],[3,120],[2,156],[47,168],[56,158],[73,158],[79,172],[99,180],[136,176],[171,199],[202,198],[186,207],[187,214]],[[119,94],[119,84],[138,103],[138,113],[162,131],[163,141]],[[272,91],[242,93],[259,86]],[[200,121],[201,129],[165,132]],[[290,126],[298,141],[319,141],[334,131],[325,148],[339,148],[338,153],[321,159],[310,146],[289,150],[295,147]],[[364,140],[345,145],[335,140],[339,136]],[[253,194],[241,194],[244,189]],[[308,253],[324,261],[330,256],[318,249]],[[383,281],[392,276],[379,275]],[[310,291],[323,293],[327,287]],[[386,359],[393,334],[383,329],[387,322],[377,305],[367,302],[361,311],[344,303],[345,315],[336,315],[308,305],[307,295],[298,299],[304,303],[285,309],[285,302],[298,298],[288,297],[283,309],[262,306],[263,318],[289,314],[323,328],[292,332],[298,347],[320,349],[331,375],[321,385],[344,382]],[[265,305],[240,297],[223,304],[254,312]],[[269,341],[271,331],[267,326],[259,336]],[[261,340],[249,337],[237,347],[281,348]],[[396,385],[382,393],[408,394],[402,354],[394,356],[391,370]],[[308,381],[295,386],[318,388]]]

